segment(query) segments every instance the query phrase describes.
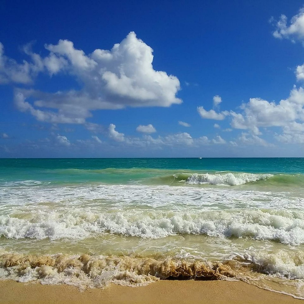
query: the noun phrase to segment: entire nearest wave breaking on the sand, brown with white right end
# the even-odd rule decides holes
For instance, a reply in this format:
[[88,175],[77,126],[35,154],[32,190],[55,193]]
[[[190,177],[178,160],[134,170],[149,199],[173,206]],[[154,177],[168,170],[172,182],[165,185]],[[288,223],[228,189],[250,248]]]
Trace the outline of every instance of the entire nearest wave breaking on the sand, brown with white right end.
[[[74,285],[81,290],[110,283],[145,286],[164,279],[242,280],[304,299],[304,254],[234,254],[223,262],[89,254],[26,255],[0,249],[0,279]],[[262,274],[262,275],[260,275]],[[265,275],[263,275],[265,274]]]

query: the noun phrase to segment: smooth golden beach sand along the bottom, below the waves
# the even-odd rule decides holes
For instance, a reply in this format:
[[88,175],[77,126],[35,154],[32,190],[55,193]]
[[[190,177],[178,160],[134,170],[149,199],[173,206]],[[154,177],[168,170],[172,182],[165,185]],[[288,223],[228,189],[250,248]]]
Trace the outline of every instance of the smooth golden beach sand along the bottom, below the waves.
[[67,285],[41,285],[0,281],[2,304],[47,303],[304,303],[244,282],[161,280],[143,287],[110,285],[80,292]]

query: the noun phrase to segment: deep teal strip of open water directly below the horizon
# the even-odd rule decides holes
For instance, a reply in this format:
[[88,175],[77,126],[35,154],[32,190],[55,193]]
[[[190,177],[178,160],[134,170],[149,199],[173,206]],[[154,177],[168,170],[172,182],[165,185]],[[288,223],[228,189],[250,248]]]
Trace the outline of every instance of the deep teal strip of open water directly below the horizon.
[[0,167],[18,170],[154,168],[304,174],[304,158],[2,158]]

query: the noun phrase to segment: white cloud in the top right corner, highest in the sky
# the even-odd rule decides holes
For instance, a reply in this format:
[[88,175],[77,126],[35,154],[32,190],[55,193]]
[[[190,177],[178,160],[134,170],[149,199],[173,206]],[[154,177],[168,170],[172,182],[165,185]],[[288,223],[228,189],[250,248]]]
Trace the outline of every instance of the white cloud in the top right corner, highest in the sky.
[[290,24],[287,24],[287,17],[281,15],[279,21],[276,23],[276,30],[273,36],[276,38],[286,38],[293,42],[295,40],[302,40],[304,38],[304,8],[299,10],[299,13],[292,17]]

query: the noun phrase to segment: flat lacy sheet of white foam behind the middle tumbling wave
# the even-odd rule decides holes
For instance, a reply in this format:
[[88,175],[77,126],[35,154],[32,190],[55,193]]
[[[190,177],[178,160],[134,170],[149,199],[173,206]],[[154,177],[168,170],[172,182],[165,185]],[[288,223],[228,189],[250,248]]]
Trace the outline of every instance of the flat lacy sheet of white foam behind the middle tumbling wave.
[[[302,209],[301,197],[289,192],[260,192],[236,188],[196,188],[190,186],[143,185],[79,185],[71,187],[0,187],[0,211],[48,202],[62,208],[105,206],[108,209],[128,206],[168,207],[176,210],[185,207],[204,209],[264,208]],[[57,207],[57,205],[56,205]],[[1,212],[3,214],[3,212]]]

